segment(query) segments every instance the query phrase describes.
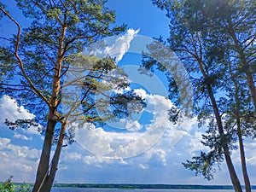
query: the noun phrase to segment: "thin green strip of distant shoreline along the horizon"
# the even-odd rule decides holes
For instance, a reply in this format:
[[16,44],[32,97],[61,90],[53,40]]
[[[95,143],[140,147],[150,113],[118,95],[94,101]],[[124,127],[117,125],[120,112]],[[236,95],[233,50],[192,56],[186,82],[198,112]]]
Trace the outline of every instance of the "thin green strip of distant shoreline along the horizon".
[[[234,189],[232,185],[201,184],[131,184],[131,183],[55,183],[58,188],[106,188],[106,189]],[[244,188],[244,186],[243,186]],[[256,189],[256,185],[252,186]]]

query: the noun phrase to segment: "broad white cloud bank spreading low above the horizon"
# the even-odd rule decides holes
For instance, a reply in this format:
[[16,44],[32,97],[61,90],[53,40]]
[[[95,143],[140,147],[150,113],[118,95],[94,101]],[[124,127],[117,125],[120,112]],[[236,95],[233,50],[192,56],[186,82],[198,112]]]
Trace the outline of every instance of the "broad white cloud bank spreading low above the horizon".
[[[56,177],[59,182],[230,184],[225,163],[221,166],[222,170],[217,171],[216,180],[211,183],[206,183],[202,177],[195,177],[194,172],[185,170],[181,165],[181,162],[191,160],[192,155],[199,154],[199,150],[207,149],[201,144],[203,130],[197,130],[196,119],[183,119],[179,125],[172,125],[167,120],[167,110],[172,106],[172,102],[164,96],[147,95],[143,90],[137,90],[137,95],[139,94],[145,96],[148,102],[146,110],[148,113],[154,113],[154,119],[146,127],[137,125],[139,121],[133,126],[142,126],[142,129],[149,131],[148,134],[145,136],[145,132],[141,132],[142,129],[110,132],[92,124],[85,124],[84,129],[79,130],[79,144],[84,145],[86,150],[77,143],[63,148]],[[159,134],[163,130],[163,135]],[[13,137],[19,137],[18,141],[22,140],[21,133],[15,133],[11,136]],[[26,140],[26,137],[23,139]],[[30,140],[27,141],[29,143]],[[255,147],[255,141],[245,142],[248,171],[252,176],[256,171],[253,168],[256,161]],[[99,155],[88,152],[95,148]],[[34,147],[16,145],[10,138],[0,137],[0,180],[12,174],[20,179],[20,182],[33,182],[40,151]],[[112,158],[103,157],[102,154]],[[138,155],[127,159],[120,158],[130,154]],[[234,160],[238,158],[237,155],[238,152],[233,153]],[[234,162],[239,168],[240,162]],[[252,177],[252,183],[255,179]]]

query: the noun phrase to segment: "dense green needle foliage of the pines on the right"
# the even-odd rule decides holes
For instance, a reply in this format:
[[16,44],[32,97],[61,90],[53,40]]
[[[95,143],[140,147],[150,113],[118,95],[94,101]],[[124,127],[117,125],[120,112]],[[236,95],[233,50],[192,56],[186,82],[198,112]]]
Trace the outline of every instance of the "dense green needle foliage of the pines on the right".
[[[183,166],[212,179],[214,167],[224,160],[223,146],[227,145],[230,153],[237,149],[238,120],[242,137],[255,137],[252,79],[255,82],[256,3],[254,0],[153,0],[153,3],[166,10],[170,18],[170,38],[166,44],[176,51],[189,73],[199,125],[208,125],[202,143],[209,150],[187,160]],[[154,64],[147,61],[144,66]],[[176,92],[171,97],[177,96],[176,84],[170,81],[169,85]],[[221,119],[218,125],[217,116]],[[223,133],[219,129],[222,125]]]

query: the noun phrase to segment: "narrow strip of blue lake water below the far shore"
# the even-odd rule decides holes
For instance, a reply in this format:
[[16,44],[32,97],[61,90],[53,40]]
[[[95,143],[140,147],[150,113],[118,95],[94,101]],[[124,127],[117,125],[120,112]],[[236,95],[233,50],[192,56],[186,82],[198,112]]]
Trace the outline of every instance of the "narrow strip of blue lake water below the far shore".
[[[86,188],[53,188],[51,192],[234,192],[229,189],[86,189]],[[256,190],[252,190],[256,192]]]

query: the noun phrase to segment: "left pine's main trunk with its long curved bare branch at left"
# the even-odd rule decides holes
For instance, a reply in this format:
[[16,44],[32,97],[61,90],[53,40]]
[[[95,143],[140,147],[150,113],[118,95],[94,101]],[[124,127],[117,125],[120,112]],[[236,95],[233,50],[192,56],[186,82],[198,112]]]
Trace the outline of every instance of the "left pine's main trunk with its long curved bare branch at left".
[[[0,10],[3,12],[4,15],[7,15],[9,17],[9,19],[15,23],[16,26],[18,26],[18,32],[16,35],[17,41],[15,43],[15,57],[17,58],[17,60],[19,62],[19,66],[20,66],[22,75],[26,79],[27,83],[30,84],[34,93],[37,94],[44,102],[46,102],[49,105],[49,115],[48,115],[46,132],[45,132],[45,136],[44,136],[44,146],[42,149],[42,154],[41,154],[39,165],[38,165],[36,181],[35,181],[35,184],[32,189],[32,192],[39,192],[39,191],[43,192],[43,190],[40,190],[40,189],[44,186],[45,180],[49,174],[49,157],[50,157],[50,151],[51,151],[51,146],[52,146],[52,139],[53,139],[54,131],[55,131],[55,125],[57,123],[56,108],[59,104],[59,101],[57,98],[60,93],[61,62],[62,62],[62,59],[64,56],[63,43],[64,43],[65,32],[67,30],[67,26],[66,26],[66,23],[64,23],[61,28],[58,55],[57,55],[57,59],[56,59],[56,63],[55,63],[55,75],[54,75],[54,79],[53,79],[53,89],[52,89],[51,100],[49,102],[49,100],[44,95],[42,95],[40,90],[38,90],[34,86],[34,84],[32,83],[32,80],[29,79],[29,77],[26,75],[26,71],[24,69],[23,62],[20,59],[20,55],[18,55],[18,49],[19,49],[19,44],[20,44],[20,32],[21,32],[20,24],[11,15],[9,15],[9,13],[7,11],[5,11],[3,8],[0,7]],[[66,125],[65,125],[65,127],[66,127]],[[65,131],[65,129],[64,129],[64,131]],[[63,141],[63,138],[62,138],[62,141]],[[52,162],[55,166],[57,166],[57,164],[58,164],[60,153],[61,153],[61,149],[58,149],[58,150],[56,149],[55,158],[54,158],[54,161]],[[55,162],[56,160],[57,160],[57,162]],[[55,174],[54,174],[54,176],[55,176]],[[50,189],[48,191],[50,191]],[[45,190],[44,192],[47,192],[47,191]]]

